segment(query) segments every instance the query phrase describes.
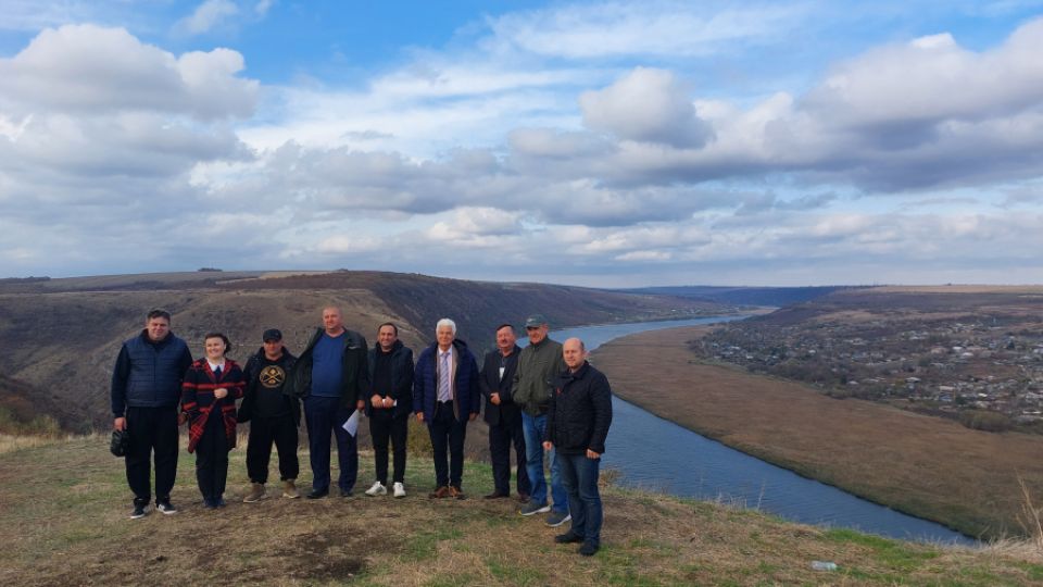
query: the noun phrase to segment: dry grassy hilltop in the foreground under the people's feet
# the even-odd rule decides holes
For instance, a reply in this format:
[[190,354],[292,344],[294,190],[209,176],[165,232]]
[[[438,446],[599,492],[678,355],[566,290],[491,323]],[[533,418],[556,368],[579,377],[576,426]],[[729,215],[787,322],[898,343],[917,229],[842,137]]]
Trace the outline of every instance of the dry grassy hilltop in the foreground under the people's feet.
[[[402,500],[230,499],[203,510],[179,460],[175,516],[127,519],[122,462],[103,437],[0,439],[0,584],[68,585],[1026,585],[1043,559],[1023,545],[969,550],[781,522],[755,511],[608,487],[603,548],[581,559],[557,530],[503,500],[431,501],[430,460],[411,454]],[[34,446],[36,445],[36,446]],[[229,496],[246,490],[235,450]],[[304,455],[306,460],[306,454]],[[360,483],[372,478],[363,455]],[[491,489],[470,463],[463,487]],[[32,483],[28,480],[32,479]],[[815,571],[833,561],[833,572]]]

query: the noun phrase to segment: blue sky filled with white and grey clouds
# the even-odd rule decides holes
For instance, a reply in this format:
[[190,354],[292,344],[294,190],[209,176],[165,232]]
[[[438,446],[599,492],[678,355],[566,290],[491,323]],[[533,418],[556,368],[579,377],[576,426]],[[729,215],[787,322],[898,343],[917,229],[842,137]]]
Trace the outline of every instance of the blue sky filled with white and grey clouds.
[[1043,282],[1043,1],[3,4],[0,276]]

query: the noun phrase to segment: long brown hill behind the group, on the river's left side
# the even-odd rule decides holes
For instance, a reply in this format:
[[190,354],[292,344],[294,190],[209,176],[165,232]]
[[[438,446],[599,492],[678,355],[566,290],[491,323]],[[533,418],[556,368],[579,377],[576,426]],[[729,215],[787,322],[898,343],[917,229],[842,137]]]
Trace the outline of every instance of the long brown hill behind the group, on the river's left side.
[[[144,314],[164,308],[173,330],[199,354],[211,330],[227,334],[234,359],[260,347],[264,328],[282,329],[300,351],[319,324],[319,310],[338,304],[348,327],[373,342],[377,326],[400,325],[401,338],[419,348],[435,323],[452,317],[460,337],[480,355],[492,328],[520,325],[541,312],[552,325],[668,320],[732,313],[720,303],[651,294],[626,294],[541,284],[499,284],[381,272],[193,272],[0,282],[0,351],[17,396],[53,415],[63,427],[105,426],[112,365]],[[10,387],[10,386],[9,386]],[[12,388],[13,389],[13,388]],[[13,395],[0,389],[0,397]]]

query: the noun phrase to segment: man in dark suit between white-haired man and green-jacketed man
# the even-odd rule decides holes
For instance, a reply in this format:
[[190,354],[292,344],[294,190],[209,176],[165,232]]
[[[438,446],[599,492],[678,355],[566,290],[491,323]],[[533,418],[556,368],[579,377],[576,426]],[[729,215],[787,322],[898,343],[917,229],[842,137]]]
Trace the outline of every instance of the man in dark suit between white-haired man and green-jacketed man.
[[489,424],[489,452],[492,455],[492,482],[495,489],[486,499],[511,496],[511,445],[518,464],[518,500],[529,500],[529,475],[525,469],[525,434],[522,410],[511,400],[511,385],[522,349],[515,344],[514,326],[497,327],[497,349],[486,353],[479,386],[486,398],[486,423]]

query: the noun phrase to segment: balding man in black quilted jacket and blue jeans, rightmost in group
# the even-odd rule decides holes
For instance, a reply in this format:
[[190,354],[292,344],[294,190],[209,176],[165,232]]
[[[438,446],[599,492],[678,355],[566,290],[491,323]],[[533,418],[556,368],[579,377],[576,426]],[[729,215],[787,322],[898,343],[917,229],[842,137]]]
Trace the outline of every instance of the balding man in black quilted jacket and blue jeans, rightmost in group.
[[582,340],[569,338],[562,352],[568,370],[554,380],[543,448],[557,451],[573,525],[554,541],[582,542],[579,553],[590,557],[601,547],[598,473],[612,424],[612,389],[605,375],[587,362]]

